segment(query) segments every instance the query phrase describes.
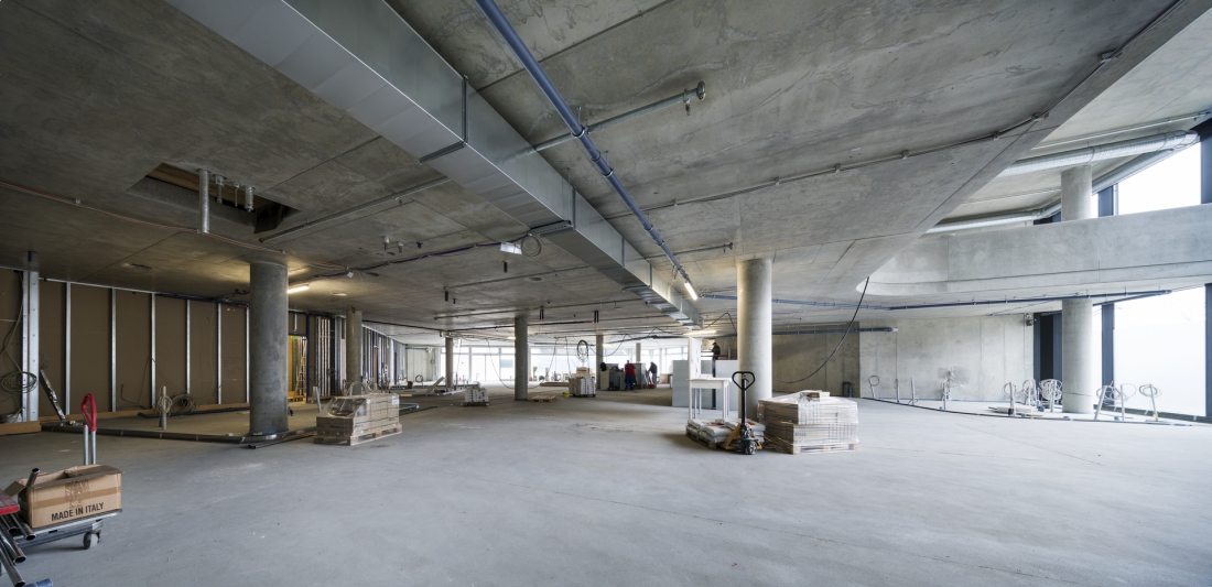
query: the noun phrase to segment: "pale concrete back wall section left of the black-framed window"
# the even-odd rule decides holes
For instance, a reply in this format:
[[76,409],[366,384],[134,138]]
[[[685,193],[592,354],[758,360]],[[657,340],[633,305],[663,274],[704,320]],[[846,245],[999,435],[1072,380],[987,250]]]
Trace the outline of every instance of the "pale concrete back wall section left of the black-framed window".
[[870,397],[870,375],[880,378],[880,397],[892,397],[901,380],[903,397],[914,379],[917,397],[942,397],[947,368],[955,367],[956,399],[1001,399],[1007,381],[1016,386],[1033,376],[1031,328],[1023,317],[864,321],[863,328],[893,327],[893,333],[862,333],[858,344],[863,397]]

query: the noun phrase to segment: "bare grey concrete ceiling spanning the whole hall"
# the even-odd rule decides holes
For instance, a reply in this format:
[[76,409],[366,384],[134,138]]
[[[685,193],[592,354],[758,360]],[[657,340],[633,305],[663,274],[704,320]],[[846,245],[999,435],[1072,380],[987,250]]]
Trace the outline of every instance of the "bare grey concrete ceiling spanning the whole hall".
[[[538,143],[566,132],[469,0],[389,4],[524,137]],[[856,284],[938,220],[1031,200],[965,202],[1058,185],[1048,174],[990,183],[1045,137],[1210,105],[1208,77],[1196,69],[1207,62],[1199,39],[1207,36],[1208,4],[1179,6],[1047,119],[1000,140],[924,155],[1053,105],[1094,69],[1099,53],[1122,45],[1168,2],[502,7],[588,121],[707,84],[708,98],[693,102],[688,116],[670,108],[595,136],[640,205],[654,208],[650,218],[674,251],[734,243],[681,258],[701,289],[728,292],[737,259],[770,255],[777,297],[853,303]],[[127,191],[161,163],[256,185],[263,197],[302,211],[287,228],[439,177],[417,165],[422,154],[402,151],[160,0],[0,2],[0,48],[7,56],[0,62],[0,180],[96,209],[193,226],[188,211]],[[914,156],[773,185],[904,150]],[[543,155],[571,169],[577,189],[636,249],[659,253],[576,144]],[[736,191],[743,194],[703,198]],[[693,198],[703,200],[687,203]],[[670,206],[675,201],[682,203]],[[38,251],[44,275],[107,286],[242,299],[236,292],[247,288],[248,255],[261,254],[248,247],[264,236],[217,224],[229,240],[222,241],[8,189],[0,190],[0,205],[10,212],[0,217],[0,264],[19,267],[27,251]],[[292,281],[332,276],[293,294],[292,307],[355,305],[399,336],[438,329],[504,336],[515,311],[539,306],[551,336],[595,328],[680,332],[550,243],[536,259],[485,247],[343,277],[345,267],[491,244],[487,234],[525,230],[446,184],[271,247],[290,253]],[[384,248],[384,236],[391,247]],[[519,278],[496,281],[504,277]],[[457,304],[444,297],[451,287]],[[697,305],[708,321],[734,307]],[[594,310],[602,317],[596,327],[584,323]],[[841,313],[848,318],[779,313],[776,326]]]

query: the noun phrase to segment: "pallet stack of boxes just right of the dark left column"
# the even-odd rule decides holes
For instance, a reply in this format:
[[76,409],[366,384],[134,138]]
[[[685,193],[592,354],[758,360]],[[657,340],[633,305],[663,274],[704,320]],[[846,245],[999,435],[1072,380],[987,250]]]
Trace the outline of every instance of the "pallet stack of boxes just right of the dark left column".
[[336,397],[315,419],[316,444],[349,444],[400,433],[400,396],[370,393]]

